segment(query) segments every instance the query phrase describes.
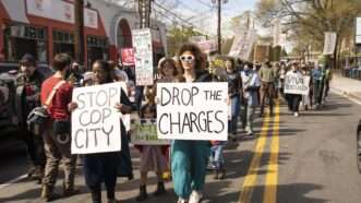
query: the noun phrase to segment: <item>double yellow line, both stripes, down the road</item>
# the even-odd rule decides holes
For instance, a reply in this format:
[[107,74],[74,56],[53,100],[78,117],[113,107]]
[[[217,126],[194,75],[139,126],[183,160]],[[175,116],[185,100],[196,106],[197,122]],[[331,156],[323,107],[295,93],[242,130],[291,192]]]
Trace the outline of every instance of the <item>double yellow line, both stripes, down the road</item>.
[[[252,199],[253,188],[257,181],[257,170],[262,160],[262,155],[266,145],[270,118],[268,114],[264,118],[261,135],[257,139],[257,143],[254,150],[254,155],[251,160],[251,165],[248,175],[244,178],[243,186],[241,188],[240,203],[250,203]],[[276,104],[275,117],[273,124],[273,136],[270,143],[270,157],[267,164],[267,174],[265,182],[265,192],[263,196],[264,203],[277,202],[277,182],[278,182],[278,152],[279,152],[279,103]]]

